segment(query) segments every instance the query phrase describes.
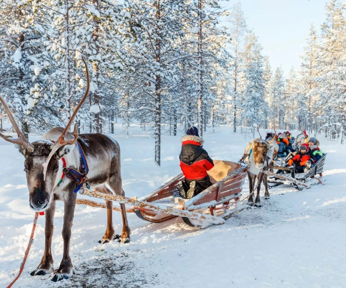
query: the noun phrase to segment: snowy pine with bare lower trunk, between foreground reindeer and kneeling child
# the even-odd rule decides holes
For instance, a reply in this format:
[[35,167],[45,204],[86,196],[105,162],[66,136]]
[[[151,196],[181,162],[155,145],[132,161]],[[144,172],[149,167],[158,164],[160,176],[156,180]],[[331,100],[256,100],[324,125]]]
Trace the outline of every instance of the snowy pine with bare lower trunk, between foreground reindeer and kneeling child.
[[[130,55],[128,65],[134,74],[130,94],[135,99],[134,116],[145,115],[154,126],[155,163],[161,163],[161,126],[167,119],[167,97],[176,85],[176,55],[174,43],[182,30],[179,15],[180,1],[144,0],[125,1],[132,15],[132,34],[128,34],[126,48]],[[149,113],[148,113],[149,112]]]

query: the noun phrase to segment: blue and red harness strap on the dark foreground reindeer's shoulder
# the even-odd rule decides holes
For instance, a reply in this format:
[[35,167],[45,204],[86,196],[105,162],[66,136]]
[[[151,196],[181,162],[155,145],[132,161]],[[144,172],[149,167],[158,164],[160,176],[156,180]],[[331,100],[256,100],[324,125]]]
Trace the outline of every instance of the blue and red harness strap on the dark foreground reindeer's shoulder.
[[80,172],[73,168],[67,168],[67,167],[63,168],[64,175],[70,180],[77,182],[77,187],[74,190],[74,193],[77,193],[82,188],[84,183],[86,184],[86,187],[90,189],[89,184],[86,182],[88,181],[86,174],[88,174],[89,172],[88,163],[86,162],[85,155],[81,145],[79,144],[78,141],[76,143],[79,150]]

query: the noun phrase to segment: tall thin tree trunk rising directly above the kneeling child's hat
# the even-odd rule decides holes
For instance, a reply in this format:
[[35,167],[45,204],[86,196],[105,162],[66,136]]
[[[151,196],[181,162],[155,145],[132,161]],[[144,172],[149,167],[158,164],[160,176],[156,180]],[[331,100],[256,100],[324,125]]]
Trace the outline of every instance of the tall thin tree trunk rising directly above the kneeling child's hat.
[[198,0],[198,45],[197,45],[197,125],[199,136],[203,137],[203,50],[202,50],[202,9],[203,0]]

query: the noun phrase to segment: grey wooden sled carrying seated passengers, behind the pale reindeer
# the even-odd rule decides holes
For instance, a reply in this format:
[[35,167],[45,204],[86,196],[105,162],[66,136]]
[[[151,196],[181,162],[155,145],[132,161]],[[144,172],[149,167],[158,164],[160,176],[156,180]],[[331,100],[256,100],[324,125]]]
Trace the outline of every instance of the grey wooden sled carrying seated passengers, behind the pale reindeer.
[[[314,164],[306,173],[295,173],[294,167],[280,167],[280,166],[270,166],[270,169],[276,170],[275,173],[268,172],[268,187],[276,187],[285,183],[290,183],[294,188],[301,190],[302,187],[310,188],[312,179],[317,179],[316,184],[321,183],[319,178],[315,178],[315,175],[322,176],[323,166],[326,159],[327,153]],[[285,173],[286,172],[286,173]]]

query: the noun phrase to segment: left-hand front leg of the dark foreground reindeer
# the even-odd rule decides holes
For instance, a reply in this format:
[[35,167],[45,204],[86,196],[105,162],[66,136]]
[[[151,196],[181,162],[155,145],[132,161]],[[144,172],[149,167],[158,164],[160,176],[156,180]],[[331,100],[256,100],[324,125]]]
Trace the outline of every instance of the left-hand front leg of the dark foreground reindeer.
[[53,220],[55,212],[55,200],[52,201],[49,208],[45,211],[46,214],[46,224],[45,224],[45,247],[41,262],[38,264],[37,268],[30,273],[31,276],[34,275],[46,275],[53,271],[53,257],[52,257],[52,236],[53,236]]

